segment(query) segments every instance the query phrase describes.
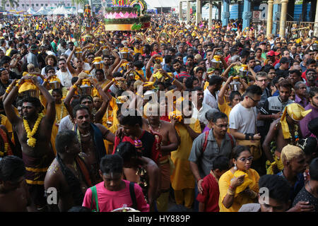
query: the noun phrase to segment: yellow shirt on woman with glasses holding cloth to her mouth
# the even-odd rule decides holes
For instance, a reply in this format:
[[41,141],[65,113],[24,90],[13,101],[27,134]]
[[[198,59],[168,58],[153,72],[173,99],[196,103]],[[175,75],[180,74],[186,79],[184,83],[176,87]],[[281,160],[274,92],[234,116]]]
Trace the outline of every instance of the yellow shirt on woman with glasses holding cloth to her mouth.
[[[248,169],[246,171],[249,179],[252,179],[252,186],[250,185],[249,188],[252,191],[259,192],[259,174],[254,169]],[[220,212],[238,212],[242,205],[247,203],[254,203],[254,200],[247,196],[247,194],[238,194],[234,198],[232,206],[230,208],[225,208],[223,205],[223,199],[225,198],[226,194],[228,194],[228,188],[230,186],[230,181],[234,177],[232,172],[228,170],[225,172],[218,181],[218,188],[220,190],[220,196],[218,199],[218,206],[220,207]]]

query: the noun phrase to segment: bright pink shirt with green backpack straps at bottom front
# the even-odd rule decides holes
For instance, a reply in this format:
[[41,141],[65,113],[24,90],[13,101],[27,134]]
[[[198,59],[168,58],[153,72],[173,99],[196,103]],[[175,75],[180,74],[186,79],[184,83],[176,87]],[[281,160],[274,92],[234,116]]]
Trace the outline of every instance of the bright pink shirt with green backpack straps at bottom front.
[[[126,180],[123,181],[125,182],[126,186],[120,191],[107,190],[104,186],[104,182],[96,184],[96,191],[98,194],[98,208],[100,212],[111,212],[114,209],[122,208],[124,204],[126,204],[126,207],[133,206],[129,192],[130,182]],[[141,186],[139,186],[138,184],[134,185],[138,210],[141,212],[149,212],[149,205],[145,201]],[[92,203],[92,195],[92,190],[87,189],[82,206],[90,208]],[[93,202],[93,206],[90,209],[95,209],[95,201]]]

